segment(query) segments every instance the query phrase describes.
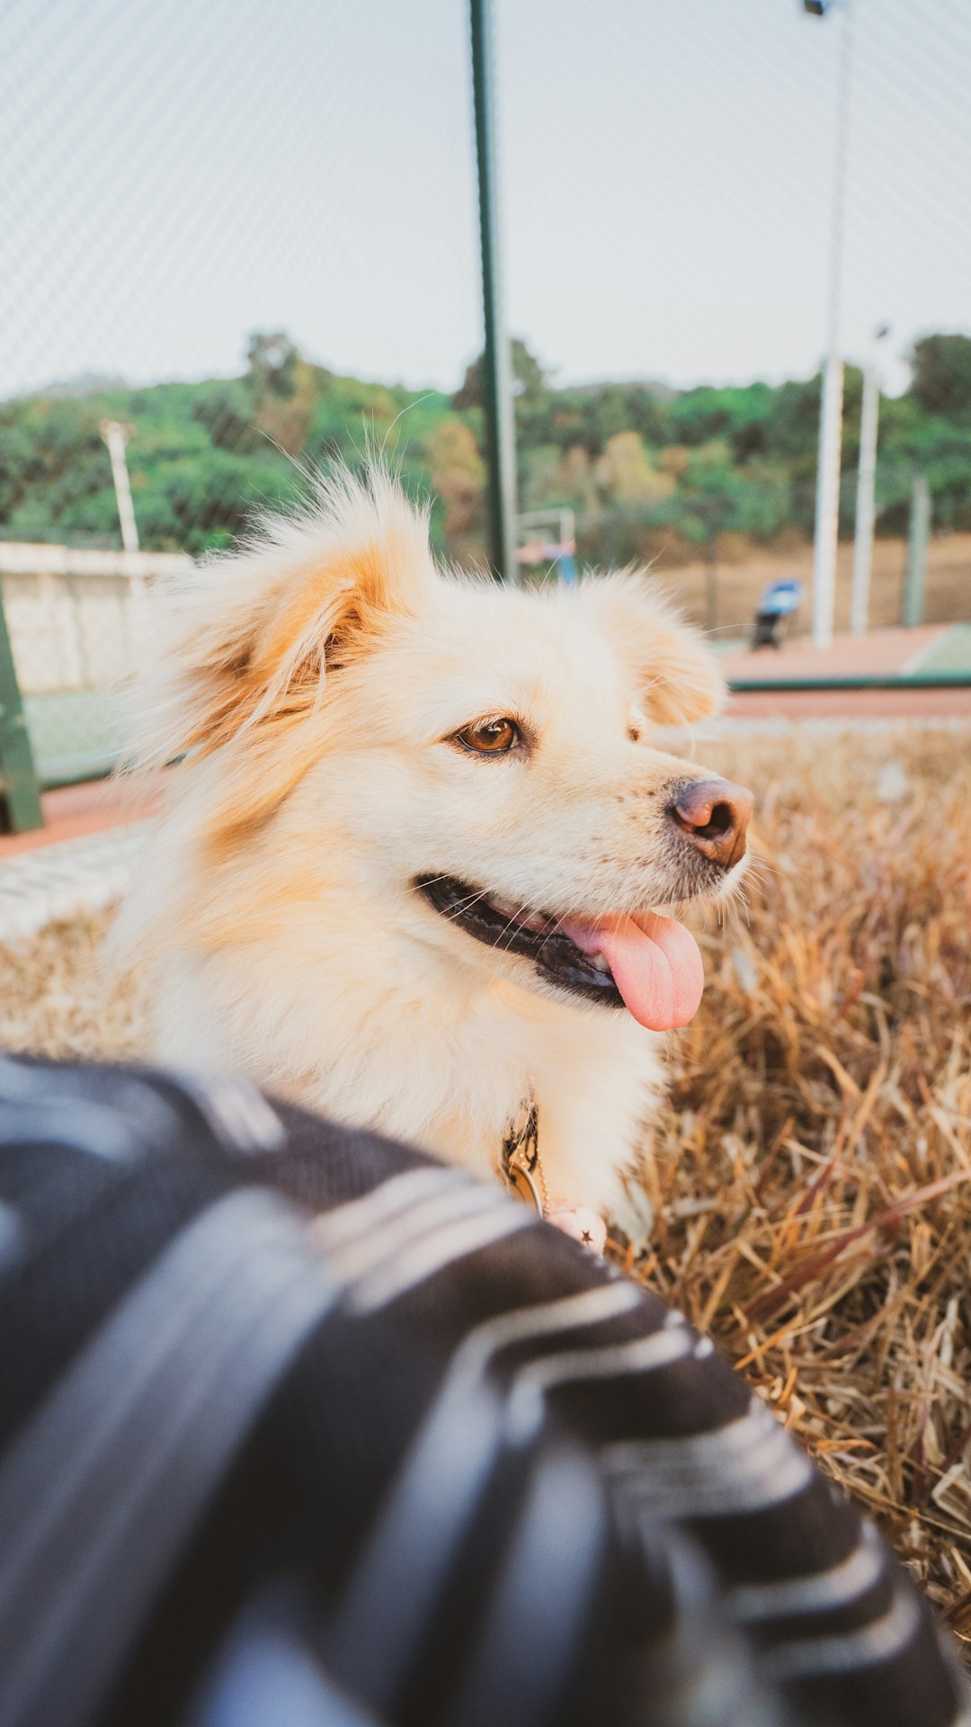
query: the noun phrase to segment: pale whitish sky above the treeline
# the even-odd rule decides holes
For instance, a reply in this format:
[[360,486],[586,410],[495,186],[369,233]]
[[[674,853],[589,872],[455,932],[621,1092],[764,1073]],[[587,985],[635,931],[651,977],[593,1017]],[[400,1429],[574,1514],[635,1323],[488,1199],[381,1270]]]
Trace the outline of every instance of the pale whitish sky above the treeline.
[[[843,19],[498,0],[510,328],[567,380],[805,376]],[[843,345],[971,332],[971,7],[852,0]],[[7,0],[0,394],[480,347],[465,0]],[[904,368],[890,363],[890,383]]]

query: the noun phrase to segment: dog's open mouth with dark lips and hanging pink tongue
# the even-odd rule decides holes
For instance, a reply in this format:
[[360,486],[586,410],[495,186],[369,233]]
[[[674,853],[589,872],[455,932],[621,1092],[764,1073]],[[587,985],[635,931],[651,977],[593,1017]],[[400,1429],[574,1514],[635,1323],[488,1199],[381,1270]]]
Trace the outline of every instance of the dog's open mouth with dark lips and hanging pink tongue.
[[698,1012],[705,983],[698,943],[670,917],[555,917],[510,905],[454,876],[418,876],[415,886],[451,924],[489,948],[530,960],[556,990],[625,1007],[650,1031],[686,1026]]

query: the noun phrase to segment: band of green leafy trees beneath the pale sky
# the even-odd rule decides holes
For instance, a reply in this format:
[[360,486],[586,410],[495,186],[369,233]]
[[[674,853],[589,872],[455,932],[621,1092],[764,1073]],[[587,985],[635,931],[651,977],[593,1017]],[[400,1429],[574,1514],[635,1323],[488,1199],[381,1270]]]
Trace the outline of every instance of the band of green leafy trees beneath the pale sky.
[[[971,340],[914,345],[911,389],[881,408],[878,532],[905,527],[916,470],[938,527],[971,528]],[[653,383],[558,389],[513,344],[520,508],[570,504],[581,553],[598,561],[698,556],[734,537],[772,544],[812,532],[819,378],[779,387],[669,390]],[[852,530],[862,376],[847,373],[843,530]],[[117,544],[98,425],[130,427],[142,544],[192,553],[233,541],[261,506],[297,497],[301,466],[385,447],[406,484],[435,497],[434,532],[484,556],[482,380],[413,392],[344,378],[282,333],[256,335],[240,378],[86,385],[0,404],[0,537]]]

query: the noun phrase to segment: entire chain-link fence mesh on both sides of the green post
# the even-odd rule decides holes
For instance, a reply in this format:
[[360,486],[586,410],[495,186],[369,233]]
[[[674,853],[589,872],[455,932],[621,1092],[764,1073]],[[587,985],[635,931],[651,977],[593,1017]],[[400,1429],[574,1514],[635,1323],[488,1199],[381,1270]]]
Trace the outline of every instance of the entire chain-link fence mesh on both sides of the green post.
[[[835,330],[836,627],[867,368],[869,622],[907,570],[919,615],[971,620],[971,12],[499,0],[496,28],[524,570],[655,561],[729,641],[790,579],[805,623]],[[154,560],[232,544],[308,465],[384,444],[484,560],[465,0],[14,0],[0,130],[0,579],[54,779],[116,750]]]

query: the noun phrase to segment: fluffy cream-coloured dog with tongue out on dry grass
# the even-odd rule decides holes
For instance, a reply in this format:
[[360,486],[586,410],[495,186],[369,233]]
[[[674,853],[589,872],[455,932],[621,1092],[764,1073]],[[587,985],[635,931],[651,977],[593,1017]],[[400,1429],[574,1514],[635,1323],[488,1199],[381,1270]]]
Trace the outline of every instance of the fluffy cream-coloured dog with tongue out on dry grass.
[[701,995],[657,908],[745,857],[748,794],[651,743],[720,699],[701,641],[639,573],[441,572],[380,470],[321,482],[173,617],[143,760],[181,765],[123,917],[159,1059],[511,1159],[567,1228],[608,1212]]

